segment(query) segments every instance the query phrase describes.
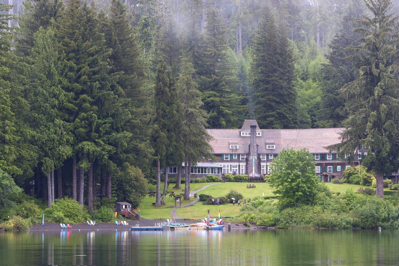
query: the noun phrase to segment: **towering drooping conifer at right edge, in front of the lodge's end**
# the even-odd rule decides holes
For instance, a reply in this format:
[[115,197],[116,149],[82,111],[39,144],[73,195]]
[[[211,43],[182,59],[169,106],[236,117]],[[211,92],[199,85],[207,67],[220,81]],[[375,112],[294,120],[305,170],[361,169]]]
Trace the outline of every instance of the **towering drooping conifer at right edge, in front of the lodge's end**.
[[395,28],[397,17],[390,13],[392,2],[366,0],[365,4],[372,17],[356,20],[362,26],[356,32],[362,38],[361,44],[354,47],[361,55],[361,67],[357,78],[341,89],[347,95],[346,129],[341,134],[342,143],[330,148],[349,154],[359,147],[367,149],[362,163],[375,172],[375,193],[383,198],[383,175],[397,171],[399,162],[399,38]]

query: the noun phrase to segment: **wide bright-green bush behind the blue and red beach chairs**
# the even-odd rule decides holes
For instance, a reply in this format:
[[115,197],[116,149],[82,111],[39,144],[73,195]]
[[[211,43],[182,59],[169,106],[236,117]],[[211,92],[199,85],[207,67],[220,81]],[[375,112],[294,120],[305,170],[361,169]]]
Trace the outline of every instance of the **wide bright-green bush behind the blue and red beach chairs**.
[[[79,205],[76,200],[64,197],[62,199],[56,199],[55,202],[51,203],[50,208],[44,210],[44,215],[49,222],[63,222],[63,223],[81,223],[89,220],[90,216],[87,213],[85,207]],[[64,218],[65,220],[59,221]]]

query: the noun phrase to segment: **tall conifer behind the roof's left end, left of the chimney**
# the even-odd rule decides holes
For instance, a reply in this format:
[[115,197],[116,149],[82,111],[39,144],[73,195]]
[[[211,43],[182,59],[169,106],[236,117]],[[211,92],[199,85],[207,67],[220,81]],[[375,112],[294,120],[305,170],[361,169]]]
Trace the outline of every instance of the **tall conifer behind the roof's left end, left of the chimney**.
[[235,53],[225,44],[225,25],[212,9],[207,14],[204,42],[201,45],[202,62],[198,66],[203,108],[209,115],[212,128],[231,128],[239,125],[243,112],[241,97],[237,95]]

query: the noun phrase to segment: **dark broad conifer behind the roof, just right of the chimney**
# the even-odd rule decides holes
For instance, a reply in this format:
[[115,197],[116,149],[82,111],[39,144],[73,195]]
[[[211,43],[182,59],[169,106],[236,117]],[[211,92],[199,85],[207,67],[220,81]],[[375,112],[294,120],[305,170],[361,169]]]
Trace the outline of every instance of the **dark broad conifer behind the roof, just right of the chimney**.
[[265,11],[251,47],[255,114],[260,127],[294,128],[297,124],[294,65],[284,29]]

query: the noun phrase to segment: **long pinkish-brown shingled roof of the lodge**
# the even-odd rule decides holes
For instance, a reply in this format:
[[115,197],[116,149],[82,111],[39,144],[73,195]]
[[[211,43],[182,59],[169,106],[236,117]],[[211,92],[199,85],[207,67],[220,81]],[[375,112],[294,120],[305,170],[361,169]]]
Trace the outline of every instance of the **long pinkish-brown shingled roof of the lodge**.
[[[214,154],[248,153],[250,136],[241,136],[241,131],[249,131],[251,125],[257,125],[256,137],[258,153],[280,153],[282,149],[306,148],[311,153],[328,153],[326,146],[340,143],[340,135],[344,128],[318,129],[259,129],[256,120],[245,120],[242,129],[207,129],[213,137],[210,145]],[[247,129],[248,127],[248,129]],[[231,150],[229,143],[238,143],[237,150]],[[266,143],[276,145],[275,149],[266,149]]]

